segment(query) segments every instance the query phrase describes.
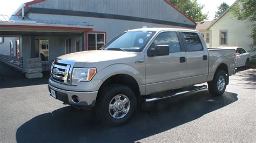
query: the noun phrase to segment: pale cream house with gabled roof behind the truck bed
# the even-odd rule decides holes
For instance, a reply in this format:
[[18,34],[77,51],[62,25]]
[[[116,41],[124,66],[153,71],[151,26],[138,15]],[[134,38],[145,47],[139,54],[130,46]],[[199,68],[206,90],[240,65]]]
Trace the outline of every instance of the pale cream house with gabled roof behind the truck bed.
[[206,28],[210,32],[210,47],[238,46],[250,51],[250,46],[255,45],[255,39],[250,38],[252,23],[233,18],[230,11],[227,9]]

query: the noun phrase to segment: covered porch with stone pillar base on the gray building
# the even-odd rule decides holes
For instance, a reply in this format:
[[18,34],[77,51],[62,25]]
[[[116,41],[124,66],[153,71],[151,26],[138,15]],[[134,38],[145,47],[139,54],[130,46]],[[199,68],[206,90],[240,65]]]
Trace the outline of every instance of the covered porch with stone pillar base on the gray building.
[[81,22],[31,21],[28,18],[3,21],[0,15],[3,38],[0,60],[23,73],[32,73],[29,78],[42,77],[41,72],[50,70],[57,56],[85,51],[87,32],[92,31],[92,27]]

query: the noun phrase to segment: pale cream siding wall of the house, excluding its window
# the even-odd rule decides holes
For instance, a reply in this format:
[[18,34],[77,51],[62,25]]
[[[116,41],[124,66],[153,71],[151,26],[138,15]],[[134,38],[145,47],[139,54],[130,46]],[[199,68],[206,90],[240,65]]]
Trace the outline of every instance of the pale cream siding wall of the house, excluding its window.
[[221,17],[212,27],[211,31],[211,47],[219,47],[220,45],[220,30],[227,30],[227,45],[226,46],[240,46],[250,51],[250,45],[253,39],[249,38],[251,28],[248,23],[242,20],[232,18],[232,13],[227,12]]

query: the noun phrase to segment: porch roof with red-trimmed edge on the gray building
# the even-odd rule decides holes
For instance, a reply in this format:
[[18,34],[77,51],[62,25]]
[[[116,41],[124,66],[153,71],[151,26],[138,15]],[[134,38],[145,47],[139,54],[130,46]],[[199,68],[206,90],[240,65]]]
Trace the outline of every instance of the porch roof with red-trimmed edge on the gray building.
[[93,26],[87,22],[32,20],[28,17],[0,15],[0,31],[80,33],[92,30]]

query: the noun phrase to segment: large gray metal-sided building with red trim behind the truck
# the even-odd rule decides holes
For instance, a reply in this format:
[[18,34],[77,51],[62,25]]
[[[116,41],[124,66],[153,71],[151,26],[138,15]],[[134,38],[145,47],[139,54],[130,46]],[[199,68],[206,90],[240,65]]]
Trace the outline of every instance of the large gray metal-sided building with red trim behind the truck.
[[38,77],[57,56],[97,50],[144,26],[194,29],[196,22],[167,0],[35,0],[0,16],[0,60]]

